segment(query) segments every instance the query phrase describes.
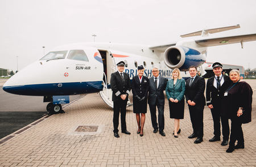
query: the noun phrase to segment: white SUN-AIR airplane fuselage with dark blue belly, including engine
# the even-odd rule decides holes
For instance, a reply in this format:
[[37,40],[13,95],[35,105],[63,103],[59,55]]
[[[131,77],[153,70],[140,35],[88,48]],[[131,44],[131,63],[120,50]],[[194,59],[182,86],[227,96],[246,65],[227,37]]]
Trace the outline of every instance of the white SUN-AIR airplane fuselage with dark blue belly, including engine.
[[[107,85],[110,84],[110,75],[117,70],[119,61],[126,63],[125,72],[130,79],[137,75],[139,65],[144,66],[144,75],[148,78],[152,76],[155,66],[159,68],[160,76],[171,78],[175,67],[186,71],[189,66],[198,67],[206,61],[207,48],[196,46],[194,41],[181,42],[180,46],[168,49],[170,53],[180,52],[180,55],[172,56],[140,45],[84,43],[59,46],[49,53],[57,53],[55,58],[43,57],[23,68],[7,80],[3,90],[31,96],[93,93],[102,90],[105,80]],[[87,59],[82,58],[83,52]],[[175,61],[172,62],[172,59]],[[189,76],[188,72],[186,76]]]

